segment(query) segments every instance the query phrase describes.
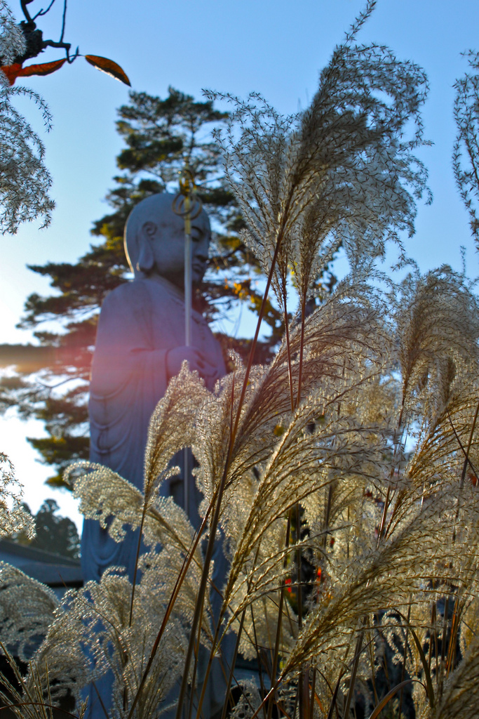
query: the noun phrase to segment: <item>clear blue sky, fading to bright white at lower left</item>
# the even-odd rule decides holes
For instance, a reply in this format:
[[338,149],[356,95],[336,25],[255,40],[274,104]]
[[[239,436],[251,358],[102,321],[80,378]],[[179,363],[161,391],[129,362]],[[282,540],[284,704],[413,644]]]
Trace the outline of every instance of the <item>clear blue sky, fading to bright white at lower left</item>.
[[[58,11],[62,0],[56,0]],[[43,4],[42,4],[43,3]],[[69,0],[65,40],[80,52],[116,60],[136,91],[164,96],[169,85],[200,99],[202,88],[245,96],[261,92],[284,113],[307,106],[320,69],[343,38],[362,0]],[[21,19],[18,0],[11,8]],[[36,12],[47,0],[34,0]],[[57,40],[60,15],[51,12],[39,27]],[[362,42],[389,45],[400,59],[427,71],[429,99],[424,107],[426,136],[433,147],[420,152],[429,168],[432,206],[419,206],[417,233],[406,242],[422,270],[442,263],[460,268],[460,246],[467,248],[468,273],[478,274],[478,256],[468,217],[455,190],[451,150],[455,137],[452,102],[455,78],[466,70],[460,53],[479,50],[477,0],[378,0],[361,31]],[[48,50],[36,62],[62,57]],[[45,136],[39,113],[29,101],[19,105],[47,146],[57,207],[52,225],[39,231],[23,226],[15,237],[0,237],[1,342],[28,342],[14,325],[25,298],[48,291],[46,280],[26,263],[75,261],[92,240],[91,224],[108,211],[103,198],[116,173],[121,141],[115,132],[116,108],[128,101],[128,88],[92,68],[83,58],[45,78],[27,78],[50,106],[52,132]],[[17,81],[18,83],[19,81]],[[55,496],[64,513],[73,503],[42,485],[49,470],[34,462],[24,436],[39,436],[41,425],[25,426],[9,416],[0,421],[0,449],[11,455],[34,510]]]

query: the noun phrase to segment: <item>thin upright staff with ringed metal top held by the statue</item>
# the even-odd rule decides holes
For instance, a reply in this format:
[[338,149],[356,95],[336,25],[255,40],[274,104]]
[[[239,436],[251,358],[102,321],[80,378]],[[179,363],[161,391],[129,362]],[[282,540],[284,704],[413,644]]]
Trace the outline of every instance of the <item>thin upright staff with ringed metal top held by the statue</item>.
[[[173,200],[173,212],[185,220],[185,347],[191,347],[191,308],[192,308],[192,281],[191,281],[191,221],[197,217],[203,209],[201,200],[195,194],[195,182],[193,173],[190,170],[188,160],[185,160],[185,168],[180,173],[180,192]],[[188,480],[190,476],[190,454],[185,447],[183,462],[183,502],[185,512],[190,516],[190,492]]]

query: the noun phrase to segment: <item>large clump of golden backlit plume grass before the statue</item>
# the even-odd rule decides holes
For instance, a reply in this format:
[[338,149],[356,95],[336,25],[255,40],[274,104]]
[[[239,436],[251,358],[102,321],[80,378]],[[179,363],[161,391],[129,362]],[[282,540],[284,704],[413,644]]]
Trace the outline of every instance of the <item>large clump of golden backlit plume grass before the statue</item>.
[[[269,365],[252,364],[254,347],[247,364],[234,355],[213,391],[182,367],[152,416],[142,491],[106,467],[71,467],[85,517],[117,542],[138,530],[147,549],[134,582],[111,567],[60,603],[1,569],[4,653],[30,662],[21,690],[7,687],[19,718],[44,716],[67,690],[81,713],[82,690],[107,672],[112,719],[199,718],[213,657],[233,687],[223,719],[386,706],[400,719],[412,716],[406,691],[417,718],[477,715],[478,300],[447,266],[378,283],[373,260],[412,232],[427,192],[412,154],[427,83],[388,48],[355,44],[372,9],[303,114],[227,96],[218,142],[244,239],[266,296],[272,285],[285,319],[288,303],[296,316]],[[307,316],[338,242],[353,272]],[[185,446],[203,493],[196,531],[162,497]],[[257,682],[236,682],[231,633]]]

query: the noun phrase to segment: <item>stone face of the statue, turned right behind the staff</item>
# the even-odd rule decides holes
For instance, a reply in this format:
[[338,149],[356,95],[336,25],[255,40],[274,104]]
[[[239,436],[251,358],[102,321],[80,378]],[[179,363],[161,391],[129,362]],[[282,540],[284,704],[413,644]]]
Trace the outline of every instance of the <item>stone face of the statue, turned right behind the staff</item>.
[[[163,216],[150,236],[154,255],[153,273],[183,287],[185,277],[185,221],[173,212]],[[208,263],[211,230],[208,216],[201,213],[191,222],[191,275],[200,283]]]

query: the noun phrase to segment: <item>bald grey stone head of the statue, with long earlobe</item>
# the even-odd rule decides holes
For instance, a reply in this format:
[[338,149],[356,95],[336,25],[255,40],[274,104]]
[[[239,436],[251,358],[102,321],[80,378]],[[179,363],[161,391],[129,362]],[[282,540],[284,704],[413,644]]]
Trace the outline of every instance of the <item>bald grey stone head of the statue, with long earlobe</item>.
[[[159,275],[183,287],[185,221],[175,214],[175,196],[163,192],[141,200],[125,226],[125,252],[136,277]],[[200,283],[208,262],[211,230],[204,210],[191,223],[192,281]]]

